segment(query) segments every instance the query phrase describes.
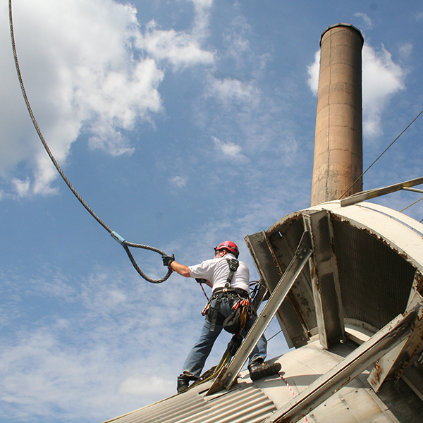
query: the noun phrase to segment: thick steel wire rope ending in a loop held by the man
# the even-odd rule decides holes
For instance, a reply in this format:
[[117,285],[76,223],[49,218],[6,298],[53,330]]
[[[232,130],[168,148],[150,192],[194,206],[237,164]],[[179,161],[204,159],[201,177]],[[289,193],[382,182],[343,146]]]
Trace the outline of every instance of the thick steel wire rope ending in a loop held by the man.
[[9,12],[9,25],[10,25],[10,32],[11,32],[11,43],[12,43],[12,50],[13,50],[13,59],[15,61],[15,66],[16,66],[16,73],[18,73],[18,80],[19,80],[19,85],[20,85],[20,90],[22,91],[23,94],[23,99],[25,100],[25,104],[27,106],[27,111],[30,114],[32,123],[35,127],[35,130],[37,131],[37,134],[39,136],[39,139],[42,142],[42,145],[44,146],[44,149],[46,150],[47,154],[49,155],[51,161],[53,162],[54,166],[56,167],[57,171],[59,172],[60,176],[62,177],[62,179],[65,181],[66,185],[68,185],[68,188],[73,192],[73,195],[75,195],[75,197],[79,200],[79,202],[82,204],[82,206],[85,207],[85,209],[87,209],[87,212],[89,212],[91,214],[92,217],[94,217],[94,219],[103,226],[104,229],[106,229],[107,232],[110,233],[110,235],[112,236],[112,238],[114,238],[116,241],[118,241],[118,243],[120,243],[123,248],[125,249],[126,254],[128,255],[130,262],[133,264],[135,270],[138,272],[138,274],[140,274],[140,276],[142,276],[142,278],[144,278],[146,281],[151,282],[151,283],[161,283],[166,281],[169,276],[171,276],[172,274],[172,270],[169,268],[168,272],[166,274],[166,276],[164,276],[161,279],[152,279],[149,278],[141,269],[140,267],[137,265],[137,262],[135,262],[135,259],[133,257],[133,255],[131,254],[129,247],[135,247],[135,248],[142,248],[145,250],[151,250],[154,252],[157,252],[159,254],[161,254],[162,256],[165,256],[166,254],[159,250],[158,248],[155,247],[150,247],[149,245],[143,245],[143,244],[134,244],[134,243],[128,243],[126,240],[124,240],[121,235],[118,235],[118,233],[114,232],[111,230],[111,228],[109,228],[109,226],[106,225],[106,223],[104,223],[104,221],[102,221],[102,219],[99,218],[99,216],[97,216],[97,214],[95,214],[92,209],[90,208],[90,206],[88,206],[88,204],[82,199],[82,197],[78,194],[77,190],[75,190],[75,188],[73,187],[73,185],[71,184],[71,182],[68,180],[68,178],[66,177],[65,173],[63,173],[61,167],[59,166],[59,163],[56,161],[54,155],[51,153],[51,150],[49,149],[49,145],[47,145],[46,140],[44,140],[44,136],[42,135],[42,132],[38,126],[37,120],[35,119],[34,114],[32,113],[32,108],[30,105],[30,102],[28,100],[27,94],[26,94],[26,90],[25,90],[25,86],[23,85],[23,78],[22,78],[22,74],[20,72],[20,67],[19,67],[19,62],[18,62],[18,54],[16,52],[16,43],[15,43],[15,34],[13,31],[13,16],[12,16],[12,0],[8,1],[8,12]]

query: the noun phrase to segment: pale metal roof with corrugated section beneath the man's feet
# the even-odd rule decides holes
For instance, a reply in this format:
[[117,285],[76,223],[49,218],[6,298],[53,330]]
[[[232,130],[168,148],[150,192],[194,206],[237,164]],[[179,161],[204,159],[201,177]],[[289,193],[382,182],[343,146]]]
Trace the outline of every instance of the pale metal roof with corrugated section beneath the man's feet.
[[[109,420],[109,423],[262,423],[271,419],[276,410],[298,396],[321,375],[329,372],[355,347],[355,343],[349,341],[325,350],[318,341],[314,341],[278,359],[283,367],[282,377],[272,376],[253,383],[248,372],[244,371],[238,377],[239,383],[230,391],[205,396],[212,385],[207,382]],[[416,416],[423,410],[423,403],[416,402],[410,388],[402,381],[397,386],[388,381],[384,384],[384,390],[376,395],[367,381],[368,374],[364,372],[350,381],[315,408],[311,415],[307,415],[307,420],[303,418],[300,422],[420,422]],[[395,393],[391,395],[386,389]]]

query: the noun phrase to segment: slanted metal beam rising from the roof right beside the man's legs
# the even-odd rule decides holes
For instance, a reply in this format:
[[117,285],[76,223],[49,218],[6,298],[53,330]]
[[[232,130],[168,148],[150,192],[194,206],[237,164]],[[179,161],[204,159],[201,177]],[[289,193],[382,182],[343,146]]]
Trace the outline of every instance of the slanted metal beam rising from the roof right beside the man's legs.
[[290,288],[292,288],[309,257],[311,257],[312,252],[309,233],[305,232],[302,235],[298,248],[288,268],[278,282],[271,297],[266,302],[266,305],[264,305],[255,324],[252,325],[252,328],[247,333],[235,357],[233,357],[233,360],[228,366],[221,369],[221,372],[216,377],[214,384],[209,388],[206,395],[212,395],[212,393],[216,393],[222,388],[226,388],[226,390],[231,388],[233,381],[235,381],[238,373],[252,353],[252,350],[254,350],[259,338],[263,335],[267,326],[269,326],[278,308],[281,307],[283,300],[286,298],[286,295]]

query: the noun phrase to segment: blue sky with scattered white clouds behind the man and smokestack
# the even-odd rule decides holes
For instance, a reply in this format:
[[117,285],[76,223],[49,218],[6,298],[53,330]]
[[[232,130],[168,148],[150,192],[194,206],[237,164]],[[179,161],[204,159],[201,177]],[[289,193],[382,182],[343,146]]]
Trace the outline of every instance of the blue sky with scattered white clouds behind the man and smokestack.
[[[49,162],[1,0],[0,422],[102,422],[173,395],[206,302],[137,275]],[[184,264],[309,206],[319,39],[362,31],[364,168],[423,109],[422,1],[13,0],[23,80],[51,151],[99,217]],[[364,176],[422,176],[423,117]],[[400,210],[419,199],[378,201]],[[421,203],[407,214],[423,219]],[[166,269],[133,251],[142,269]],[[278,331],[272,323],[268,337]],[[219,360],[223,336],[208,362]],[[283,336],[269,357],[286,352]]]

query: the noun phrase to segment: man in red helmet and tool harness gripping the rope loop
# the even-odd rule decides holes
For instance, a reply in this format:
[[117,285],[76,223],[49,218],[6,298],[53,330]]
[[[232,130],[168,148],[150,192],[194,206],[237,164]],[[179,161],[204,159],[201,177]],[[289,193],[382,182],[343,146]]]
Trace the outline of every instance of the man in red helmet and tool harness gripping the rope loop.
[[[244,262],[238,261],[238,247],[231,241],[224,241],[214,248],[213,259],[205,260],[195,266],[185,266],[175,261],[172,256],[164,256],[163,264],[186,278],[205,280],[212,288],[208,312],[199,340],[192,347],[183,364],[183,373],[178,376],[178,392],[188,389],[190,381],[196,381],[212,351],[214,341],[223,329],[223,320],[232,313],[232,306],[237,299],[247,300],[250,294],[250,270]],[[242,335],[245,336],[255,321],[246,321]],[[265,364],[267,341],[259,339],[250,355],[248,370],[252,380],[276,374],[281,364]]]

